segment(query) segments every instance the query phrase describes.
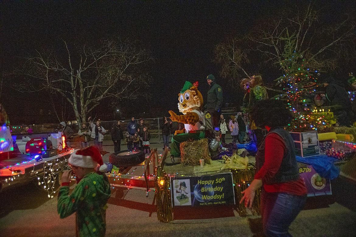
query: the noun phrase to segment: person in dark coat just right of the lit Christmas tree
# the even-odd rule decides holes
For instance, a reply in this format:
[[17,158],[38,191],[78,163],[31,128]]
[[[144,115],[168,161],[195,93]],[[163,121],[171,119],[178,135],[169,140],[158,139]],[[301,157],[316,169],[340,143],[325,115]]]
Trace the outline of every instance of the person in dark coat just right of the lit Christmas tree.
[[330,102],[331,111],[334,113],[336,122],[340,126],[351,126],[351,122],[354,122],[354,113],[342,82],[328,76],[326,82],[324,82],[324,87],[325,96]]

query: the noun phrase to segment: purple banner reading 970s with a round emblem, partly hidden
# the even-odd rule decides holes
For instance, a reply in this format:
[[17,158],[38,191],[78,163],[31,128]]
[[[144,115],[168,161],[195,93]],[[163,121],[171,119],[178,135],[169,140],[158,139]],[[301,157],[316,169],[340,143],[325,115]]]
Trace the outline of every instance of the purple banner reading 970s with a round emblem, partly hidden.
[[308,197],[331,195],[330,179],[321,177],[311,165],[298,163],[298,166],[300,177],[307,186]]

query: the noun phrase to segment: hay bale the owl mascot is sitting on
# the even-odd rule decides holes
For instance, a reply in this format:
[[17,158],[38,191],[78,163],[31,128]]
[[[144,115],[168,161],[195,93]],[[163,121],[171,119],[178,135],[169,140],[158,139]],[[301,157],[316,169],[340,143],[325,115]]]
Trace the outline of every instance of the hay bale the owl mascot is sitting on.
[[208,139],[184,141],[180,144],[180,163],[183,166],[197,166],[200,159],[210,165]]

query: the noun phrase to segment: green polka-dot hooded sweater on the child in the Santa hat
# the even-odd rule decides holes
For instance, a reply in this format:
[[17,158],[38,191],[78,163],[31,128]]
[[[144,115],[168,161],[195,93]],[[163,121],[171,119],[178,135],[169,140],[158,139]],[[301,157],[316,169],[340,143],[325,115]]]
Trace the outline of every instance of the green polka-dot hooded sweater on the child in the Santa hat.
[[57,210],[60,218],[76,212],[77,236],[105,236],[106,203],[110,184],[105,174],[87,174],[69,195],[69,186],[59,188]]

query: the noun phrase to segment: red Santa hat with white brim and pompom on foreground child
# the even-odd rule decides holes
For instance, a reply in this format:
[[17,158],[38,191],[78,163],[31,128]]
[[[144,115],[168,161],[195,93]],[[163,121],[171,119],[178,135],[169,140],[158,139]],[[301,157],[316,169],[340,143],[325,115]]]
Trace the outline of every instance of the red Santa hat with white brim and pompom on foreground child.
[[95,146],[73,151],[68,159],[69,165],[82,168],[96,168],[97,171],[105,172],[108,166],[104,164],[103,157]]

